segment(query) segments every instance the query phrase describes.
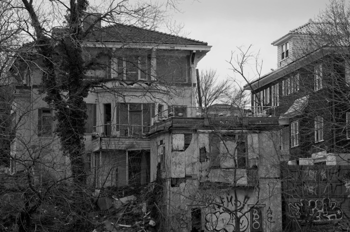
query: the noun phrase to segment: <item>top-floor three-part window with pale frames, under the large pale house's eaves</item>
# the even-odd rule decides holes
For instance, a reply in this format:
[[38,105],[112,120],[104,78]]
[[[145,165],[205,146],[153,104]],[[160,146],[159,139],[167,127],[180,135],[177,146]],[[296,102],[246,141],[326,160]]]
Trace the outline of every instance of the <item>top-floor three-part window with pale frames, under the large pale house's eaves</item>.
[[112,58],[110,65],[110,77],[123,80],[136,81],[138,79],[150,79],[149,56],[127,56]]

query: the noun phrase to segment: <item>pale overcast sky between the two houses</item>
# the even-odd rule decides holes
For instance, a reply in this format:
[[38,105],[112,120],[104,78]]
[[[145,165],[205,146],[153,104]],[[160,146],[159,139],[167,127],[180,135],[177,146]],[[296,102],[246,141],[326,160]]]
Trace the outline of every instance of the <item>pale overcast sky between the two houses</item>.
[[[277,47],[271,42],[308,20],[315,19],[325,9],[328,0],[184,0],[173,19],[184,23],[185,37],[207,42],[211,50],[200,60],[197,68],[216,69],[218,78],[243,79],[229,70],[227,61],[237,47],[252,44],[259,51],[262,72],[277,67]],[[236,52],[235,52],[236,53]],[[254,67],[254,66],[252,66]],[[246,68],[249,80],[256,78]]]

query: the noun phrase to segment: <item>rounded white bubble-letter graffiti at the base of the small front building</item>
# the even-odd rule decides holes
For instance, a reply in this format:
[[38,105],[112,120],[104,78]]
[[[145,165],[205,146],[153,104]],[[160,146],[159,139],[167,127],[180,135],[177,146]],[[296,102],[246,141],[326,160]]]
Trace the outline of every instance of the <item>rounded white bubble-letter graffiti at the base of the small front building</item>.
[[[244,232],[248,228],[248,219],[237,212],[239,220],[239,229]],[[228,212],[208,213],[205,216],[205,229],[211,232],[234,232],[235,217]]]

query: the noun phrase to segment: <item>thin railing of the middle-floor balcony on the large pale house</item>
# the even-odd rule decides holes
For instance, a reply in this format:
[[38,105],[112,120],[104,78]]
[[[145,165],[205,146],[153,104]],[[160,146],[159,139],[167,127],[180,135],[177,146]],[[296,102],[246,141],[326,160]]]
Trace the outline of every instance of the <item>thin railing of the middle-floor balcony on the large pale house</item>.
[[129,124],[102,124],[93,127],[94,133],[100,137],[145,137],[150,126],[129,125]]

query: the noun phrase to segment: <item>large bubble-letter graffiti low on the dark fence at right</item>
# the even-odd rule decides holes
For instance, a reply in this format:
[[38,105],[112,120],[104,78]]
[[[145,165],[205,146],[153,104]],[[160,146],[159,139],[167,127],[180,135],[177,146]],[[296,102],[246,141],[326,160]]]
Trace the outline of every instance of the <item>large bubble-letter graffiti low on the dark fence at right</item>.
[[327,222],[343,218],[343,212],[336,202],[329,198],[318,200],[301,199],[294,204],[289,203],[289,217],[296,219],[300,223],[306,221]]

